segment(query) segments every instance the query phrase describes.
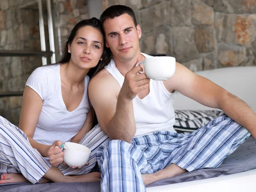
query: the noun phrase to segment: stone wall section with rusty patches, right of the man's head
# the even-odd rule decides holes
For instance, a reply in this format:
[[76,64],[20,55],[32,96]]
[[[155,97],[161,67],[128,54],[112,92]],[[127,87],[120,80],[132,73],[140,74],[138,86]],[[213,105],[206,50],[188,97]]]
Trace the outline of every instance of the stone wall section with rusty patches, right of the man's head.
[[142,52],[192,71],[256,64],[256,0],[108,0],[130,6]]

